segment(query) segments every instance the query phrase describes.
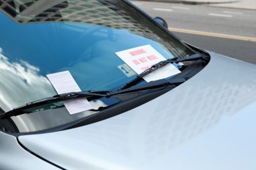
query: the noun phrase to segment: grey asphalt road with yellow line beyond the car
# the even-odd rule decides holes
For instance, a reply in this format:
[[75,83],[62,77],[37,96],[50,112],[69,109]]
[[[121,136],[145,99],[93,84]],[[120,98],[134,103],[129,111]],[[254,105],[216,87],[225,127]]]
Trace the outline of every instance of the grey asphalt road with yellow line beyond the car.
[[256,64],[256,11],[133,1],[190,44]]

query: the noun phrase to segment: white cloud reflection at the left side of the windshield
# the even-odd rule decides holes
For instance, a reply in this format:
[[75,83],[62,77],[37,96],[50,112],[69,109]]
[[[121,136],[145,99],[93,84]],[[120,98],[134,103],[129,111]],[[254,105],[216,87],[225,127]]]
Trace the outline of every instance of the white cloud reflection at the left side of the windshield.
[[0,106],[9,111],[30,101],[55,95],[39,69],[24,60],[10,61],[0,48]]

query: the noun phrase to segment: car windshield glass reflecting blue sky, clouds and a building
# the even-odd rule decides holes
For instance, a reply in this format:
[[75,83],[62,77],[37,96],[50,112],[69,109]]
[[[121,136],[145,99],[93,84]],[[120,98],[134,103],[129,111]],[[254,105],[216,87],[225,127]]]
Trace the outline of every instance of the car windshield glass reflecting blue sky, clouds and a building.
[[137,75],[117,56],[122,50],[150,45],[166,59],[194,54],[127,1],[0,0],[0,8],[3,112],[56,95],[51,73],[69,71],[82,91],[121,87]]

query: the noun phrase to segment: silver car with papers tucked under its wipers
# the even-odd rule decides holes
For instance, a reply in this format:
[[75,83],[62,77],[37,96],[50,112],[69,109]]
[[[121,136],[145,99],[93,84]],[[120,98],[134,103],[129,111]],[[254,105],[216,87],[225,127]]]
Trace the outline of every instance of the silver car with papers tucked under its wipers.
[[255,65],[130,1],[0,10],[0,169],[256,169]]

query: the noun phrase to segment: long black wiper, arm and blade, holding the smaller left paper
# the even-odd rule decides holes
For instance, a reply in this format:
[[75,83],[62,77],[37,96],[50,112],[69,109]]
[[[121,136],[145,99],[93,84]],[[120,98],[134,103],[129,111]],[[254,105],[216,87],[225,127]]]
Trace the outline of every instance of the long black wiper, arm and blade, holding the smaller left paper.
[[29,108],[34,108],[38,105],[44,105],[47,103],[54,103],[58,101],[65,101],[65,100],[70,100],[70,99],[77,99],[77,98],[82,98],[82,97],[92,97],[94,99],[97,98],[102,98],[102,97],[112,97],[113,95],[119,95],[123,93],[131,93],[135,91],[143,91],[143,90],[149,90],[149,89],[155,89],[159,87],[166,87],[169,85],[180,85],[181,83],[184,83],[186,79],[162,79],[159,81],[152,81],[150,83],[147,83],[146,85],[140,85],[137,87],[131,87],[129,89],[123,89],[120,91],[81,91],[81,92],[71,92],[71,93],[63,93],[60,95],[54,95],[53,97],[47,97],[44,99],[40,99],[38,101],[33,101],[30,103],[26,103],[26,105],[23,105],[19,108],[15,108],[13,110],[10,110],[9,112],[5,112],[0,115],[1,119],[4,118],[9,118],[11,116],[18,116],[21,114],[30,114],[28,112],[24,112],[24,110],[29,109]]

